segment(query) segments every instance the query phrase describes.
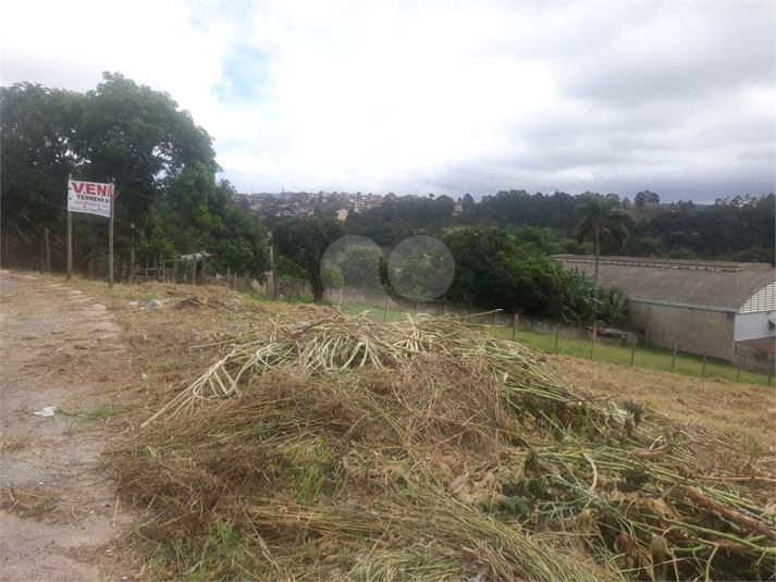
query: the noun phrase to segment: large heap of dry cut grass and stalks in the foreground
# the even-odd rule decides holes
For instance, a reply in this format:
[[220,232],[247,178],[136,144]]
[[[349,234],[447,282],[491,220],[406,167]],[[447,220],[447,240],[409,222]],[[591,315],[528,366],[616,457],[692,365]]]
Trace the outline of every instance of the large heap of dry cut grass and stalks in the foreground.
[[[187,300],[183,327],[213,301]],[[110,455],[160,578],[774,575],[756,442],[572,388],[465,320],[251,309]]]

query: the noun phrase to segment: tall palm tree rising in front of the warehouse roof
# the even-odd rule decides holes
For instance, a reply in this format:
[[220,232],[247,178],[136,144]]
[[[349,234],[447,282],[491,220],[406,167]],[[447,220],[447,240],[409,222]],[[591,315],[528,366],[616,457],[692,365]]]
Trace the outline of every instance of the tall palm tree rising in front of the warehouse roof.
[[630,215],[620,208],[617,200],[600,194],[584,193],[575,211],[582,218],[577,225],[577,240],[591,240],[595,249],[594,296],[598,298],[599,257],[601,244],[619,245],[628,239],[630,233],[626,224]]

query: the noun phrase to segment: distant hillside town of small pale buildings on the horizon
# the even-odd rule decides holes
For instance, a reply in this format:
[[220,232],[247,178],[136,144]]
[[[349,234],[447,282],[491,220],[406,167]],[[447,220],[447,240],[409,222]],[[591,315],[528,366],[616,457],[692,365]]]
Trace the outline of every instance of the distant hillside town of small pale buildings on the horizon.
[[[428,195],[433,198],[433,194]],[[347,213],[364,212],[371,208],[378,208],[385,200],[412,200],[423,198],[417,194],[397,196],[390,191],[386,195],[345,193],[345,191],[281,191],[278,193],[236,193],[234,200],[246,210],[251,210],[266,216],[312,216],[316,214],[336,213],[340,220],[345,220]],[[463,211],[460,198],[455,202],[453,214],[460,214]],[[316,211],[317,210],[317,211]]]

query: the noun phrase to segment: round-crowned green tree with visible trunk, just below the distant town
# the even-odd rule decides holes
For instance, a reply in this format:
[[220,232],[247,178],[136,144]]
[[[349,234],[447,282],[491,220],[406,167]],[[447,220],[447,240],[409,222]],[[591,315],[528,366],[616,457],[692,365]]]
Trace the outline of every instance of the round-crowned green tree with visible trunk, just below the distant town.
[[312,300],[323,298],[321,260],[329,246],[347,235],[342,221],[321,216],[296,218],[275,224],[272,239],[280,253],[301,267],[312,287]]

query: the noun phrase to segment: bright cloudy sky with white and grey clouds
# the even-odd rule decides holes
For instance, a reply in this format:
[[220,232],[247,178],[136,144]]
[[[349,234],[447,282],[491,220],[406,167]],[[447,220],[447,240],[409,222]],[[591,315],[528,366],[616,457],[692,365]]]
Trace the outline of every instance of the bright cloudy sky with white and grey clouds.
[[239,191],[774,191],[764,2],[13,2],[2,85],[168,91]]

